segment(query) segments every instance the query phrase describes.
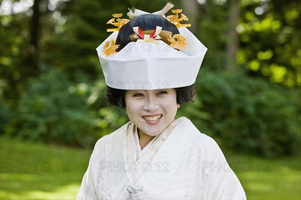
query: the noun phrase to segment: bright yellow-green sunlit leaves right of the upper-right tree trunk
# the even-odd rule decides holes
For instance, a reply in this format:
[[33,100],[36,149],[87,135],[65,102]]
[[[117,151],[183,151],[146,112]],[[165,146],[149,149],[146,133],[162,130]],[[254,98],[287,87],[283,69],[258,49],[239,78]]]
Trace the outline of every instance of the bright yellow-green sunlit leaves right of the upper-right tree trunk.
[[[258,1],[242,5],[237,26],[238,64],[271,82],[301,86],[300,2]],[[262,13],[256,14],[260,9]]]

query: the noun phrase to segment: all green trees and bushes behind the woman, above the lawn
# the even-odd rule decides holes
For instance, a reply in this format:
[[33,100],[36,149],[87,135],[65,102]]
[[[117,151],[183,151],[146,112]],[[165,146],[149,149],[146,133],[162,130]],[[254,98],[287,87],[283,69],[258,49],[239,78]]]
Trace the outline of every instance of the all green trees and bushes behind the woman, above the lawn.
[[[176,9],[183,2],[172,3]],[[238,41],[229,42],[227,18],[237,12],[230,2],[199,6],[198,36],[208,52],[195,103],[182,105],[178,116],[228,148],[267,156],[298,152],[300,3],[240,1]],[[60,1],[41,11],[37,49],[30,44],[31,10],[1,15],[0,134],[91,147],[124,124],[124,111],[107,107],[95,49],[109,36],[113,27],[105,22],[113,13],[125,17],[132,6],[152,13],[166,3]],[[238,48],[232,71],[225,67],[226,44]]]

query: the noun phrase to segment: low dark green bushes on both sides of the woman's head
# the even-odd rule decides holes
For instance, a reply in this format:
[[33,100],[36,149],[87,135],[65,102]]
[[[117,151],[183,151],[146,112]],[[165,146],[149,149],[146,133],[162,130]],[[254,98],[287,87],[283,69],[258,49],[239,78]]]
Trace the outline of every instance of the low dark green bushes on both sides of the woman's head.
[[[1,97],[1,131],[34,141],[92,147],[97,139],[128,121],[124,111],[108,108],[102,80],[78,83],[55,69],[36,87],[22,91],[16,106]],[[33,86],[33,85],[32,85]],[[241,72],[200,71],[194,104],[184,104],[187,116],[224,148],[265,156],[300,149],[300,89],[287,89]],[[4,100],[4,101],[3,101]]]

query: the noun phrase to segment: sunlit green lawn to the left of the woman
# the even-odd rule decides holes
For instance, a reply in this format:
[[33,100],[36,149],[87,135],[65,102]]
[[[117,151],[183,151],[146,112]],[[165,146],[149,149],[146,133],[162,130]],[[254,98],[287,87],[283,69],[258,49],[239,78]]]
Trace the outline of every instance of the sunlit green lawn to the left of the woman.
[[76,198],[92,150],[5,137],[0,145],[0,199]]

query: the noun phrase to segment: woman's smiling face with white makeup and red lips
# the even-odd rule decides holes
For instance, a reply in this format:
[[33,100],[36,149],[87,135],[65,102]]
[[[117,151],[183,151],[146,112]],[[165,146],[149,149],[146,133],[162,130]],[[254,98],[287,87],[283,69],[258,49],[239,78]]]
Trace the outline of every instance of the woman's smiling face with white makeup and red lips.
[[179,108],[175,89],[126,90],[126,113],[139,133],[156,136],[170,125]]

